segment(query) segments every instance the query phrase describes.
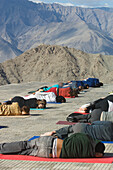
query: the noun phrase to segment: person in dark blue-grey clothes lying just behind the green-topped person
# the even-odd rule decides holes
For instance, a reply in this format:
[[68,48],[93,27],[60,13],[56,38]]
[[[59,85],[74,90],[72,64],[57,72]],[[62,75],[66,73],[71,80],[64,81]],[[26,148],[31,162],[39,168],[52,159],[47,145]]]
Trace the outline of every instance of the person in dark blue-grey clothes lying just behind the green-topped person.
[[74,133],[86,133],[93,139],[113,141],[113,122],[95,121],[91,124],[76,123],[74,125],[65,126],[56,131],[50,132],[50,134],[53,133],[61,139],[69,137]]

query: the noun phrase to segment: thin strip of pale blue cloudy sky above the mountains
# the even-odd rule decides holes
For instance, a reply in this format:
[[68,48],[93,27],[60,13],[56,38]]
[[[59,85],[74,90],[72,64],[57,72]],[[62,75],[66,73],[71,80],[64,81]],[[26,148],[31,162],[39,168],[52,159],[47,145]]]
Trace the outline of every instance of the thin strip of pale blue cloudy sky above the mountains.
[[59,3],[66,6],[112,7],[113,0],[30,0],[33,2]]

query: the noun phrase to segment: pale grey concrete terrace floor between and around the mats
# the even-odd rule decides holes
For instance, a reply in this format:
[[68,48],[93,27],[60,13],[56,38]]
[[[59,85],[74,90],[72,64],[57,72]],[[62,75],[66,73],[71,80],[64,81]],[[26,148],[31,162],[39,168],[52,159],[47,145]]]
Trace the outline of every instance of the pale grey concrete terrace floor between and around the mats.
[[[14,96],[27,95],[29,91],[36,90],[41,86],[52,83],[30,82],[22,84],[11,84],[0,86],[0,101],[6,101]],[[55,83],[54,83],[55,84]],[[100,88],[89,88],[86,92],[79,94],[79,97],[68,98],[63,104],[47,104],[47,109],[31,111],[27,117],[0,117],[0,143],[19,140],[28,140],[32,136],[38,136],[47,131],[59,129],[65,125],[56,124],[58,121],[65,121],[66,117],[76,111],[81,105],[105,97],[113,90],[113,84],[105,84]],[[4,127],[4,128],[3,128]],[[113,145],[106,145],[106,152],[113,153]],[[71,162],[38,162],[21,160],[0,160],[1,170],[95,170],[113,169],[112,164],[100,163],[71,163]]]

